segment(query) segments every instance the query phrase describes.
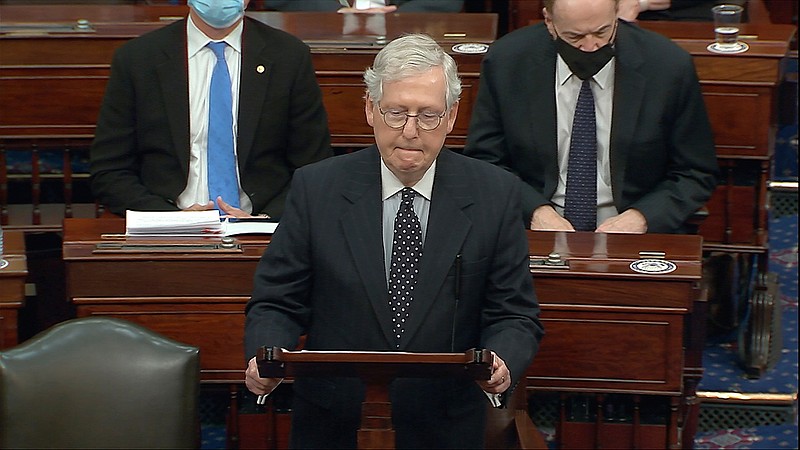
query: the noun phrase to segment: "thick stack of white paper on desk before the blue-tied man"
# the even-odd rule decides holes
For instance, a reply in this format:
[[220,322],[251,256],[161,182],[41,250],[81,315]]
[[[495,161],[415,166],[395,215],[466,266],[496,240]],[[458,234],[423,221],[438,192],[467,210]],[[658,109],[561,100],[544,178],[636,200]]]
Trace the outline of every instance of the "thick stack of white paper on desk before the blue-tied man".
[[208,236],[224,234],[219,211],[127,211],[128,236]]

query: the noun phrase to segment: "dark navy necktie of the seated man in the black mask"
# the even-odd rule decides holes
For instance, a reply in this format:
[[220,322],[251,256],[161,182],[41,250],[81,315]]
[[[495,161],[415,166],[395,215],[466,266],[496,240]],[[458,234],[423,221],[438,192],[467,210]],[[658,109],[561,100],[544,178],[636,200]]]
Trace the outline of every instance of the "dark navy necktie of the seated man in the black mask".
[[564,218],[577,231],[597,228],[597,131],[591,79],[583,80],[572,121]]

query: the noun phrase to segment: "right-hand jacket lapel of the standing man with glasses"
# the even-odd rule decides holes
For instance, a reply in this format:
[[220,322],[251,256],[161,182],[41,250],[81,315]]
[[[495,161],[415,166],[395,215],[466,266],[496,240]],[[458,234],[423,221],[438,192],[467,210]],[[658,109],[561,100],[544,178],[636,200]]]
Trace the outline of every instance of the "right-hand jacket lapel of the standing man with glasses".
[[[459,170],[457,157],[443,149],[436,163],[431,209],[425,246],[422,251],[420,276],[404,339],[408,343],[434,306],[447,274],[459,254],[472,227],[464,208],[471,205],[471,187]],[[384,302],[385,303],[385,302]],[[387,312],[388,317],[388,312]]]

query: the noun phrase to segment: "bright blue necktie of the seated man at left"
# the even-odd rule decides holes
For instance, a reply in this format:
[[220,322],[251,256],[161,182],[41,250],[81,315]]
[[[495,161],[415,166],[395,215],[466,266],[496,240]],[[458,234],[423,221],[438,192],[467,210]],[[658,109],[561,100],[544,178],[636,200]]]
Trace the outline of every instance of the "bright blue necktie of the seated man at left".
[[224,42],[209,42],[217,56],[211,74],[208,108],[208,194],[215,202],[217,196],[231,206],[239,207],[239,183],[236,180],[236,157],[233,153],[233,100],[231,76],[225,63]]

